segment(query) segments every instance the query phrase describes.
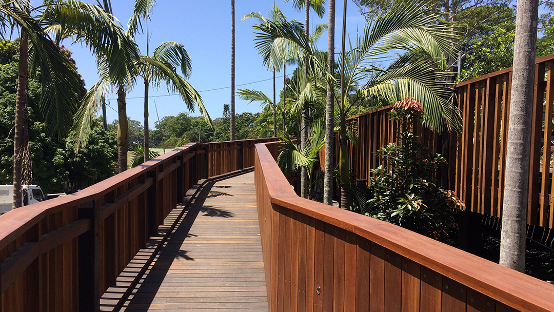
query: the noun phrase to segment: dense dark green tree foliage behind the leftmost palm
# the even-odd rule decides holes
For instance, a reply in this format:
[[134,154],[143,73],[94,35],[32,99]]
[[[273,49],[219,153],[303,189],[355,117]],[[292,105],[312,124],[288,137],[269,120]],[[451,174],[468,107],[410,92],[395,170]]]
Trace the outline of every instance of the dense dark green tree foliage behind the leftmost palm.
[[[0,133],[4,134],[0,137],[0,184],[13,182],[13,126],[18,50],[17,41],[0,41]],[[66,49],[62,49],[61,52],[66,57],[71,55]],[[76,188],[84,188],[114,175],[117,161],[115,133],[105,131],[102,122],[95,120],[91,132],[93,144],[75,154],[69,140],[48,136],[47,126],[39,108],[40,91],[40,81],[30,78],[28,118],[33,163],[32,182],[40,185],[46,193],[56,193],[72,191],[68,188],[68,182]],[[78,93],[83,94],[84,91],[83,86]]]

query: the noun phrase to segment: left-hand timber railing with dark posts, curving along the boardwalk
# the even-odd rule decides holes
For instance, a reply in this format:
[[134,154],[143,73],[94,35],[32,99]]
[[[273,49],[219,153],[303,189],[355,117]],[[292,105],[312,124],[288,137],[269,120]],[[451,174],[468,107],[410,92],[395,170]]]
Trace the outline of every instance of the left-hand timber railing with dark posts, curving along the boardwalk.
[[83,191],[0,216],[0,311],[94,311],[198,180],[254,166],[254,144],[189,143]]

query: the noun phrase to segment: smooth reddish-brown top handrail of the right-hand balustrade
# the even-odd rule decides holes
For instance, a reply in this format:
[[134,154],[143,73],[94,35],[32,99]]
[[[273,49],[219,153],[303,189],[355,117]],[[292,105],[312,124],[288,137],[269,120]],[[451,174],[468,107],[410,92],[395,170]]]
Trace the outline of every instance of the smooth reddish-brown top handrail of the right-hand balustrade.
[[394,224],[300,198],[266,145],[257,144],[256,152],[271,203],[355,233],[512,308],[554,309],[554,285]]

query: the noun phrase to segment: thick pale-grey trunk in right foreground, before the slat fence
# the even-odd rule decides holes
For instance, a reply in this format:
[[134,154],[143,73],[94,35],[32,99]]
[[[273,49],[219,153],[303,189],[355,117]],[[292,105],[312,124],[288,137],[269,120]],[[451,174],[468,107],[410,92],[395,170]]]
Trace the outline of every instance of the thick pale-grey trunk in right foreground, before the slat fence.
[[506,180],[502,203],[500,264],[523,272],[531,142],[531,114],[537,43],[538,0],[521,0],[516,8],[516,33]]

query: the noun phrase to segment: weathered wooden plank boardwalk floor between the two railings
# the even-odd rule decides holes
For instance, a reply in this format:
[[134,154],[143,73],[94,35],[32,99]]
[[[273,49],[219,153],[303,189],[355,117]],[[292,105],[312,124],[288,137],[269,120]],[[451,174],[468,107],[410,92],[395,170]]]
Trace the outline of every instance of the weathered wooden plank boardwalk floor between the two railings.
[[174,209],[101,310],[268,311],[254,173],[208,182]]

